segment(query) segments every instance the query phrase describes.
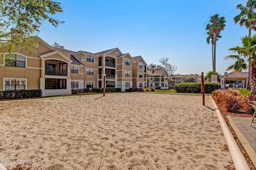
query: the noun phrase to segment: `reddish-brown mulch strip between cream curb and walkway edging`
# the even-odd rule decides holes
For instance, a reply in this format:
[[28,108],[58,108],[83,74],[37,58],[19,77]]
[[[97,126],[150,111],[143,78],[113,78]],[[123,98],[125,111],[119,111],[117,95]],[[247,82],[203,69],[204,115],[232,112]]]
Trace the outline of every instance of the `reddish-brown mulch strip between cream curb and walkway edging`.
[[[213,97],[213,99],[215,100],[214,96],[212,96],[212,97]],[[243,148],[243,146],[242,146],[242,143],[241,143],[241,142],[238,140],[238,138],[236,137],[236,134],[235,134],[235,132],[233,131],[233,129],[231,128],[231,126],[230,126],[230,124],[229,124],[229,121],[228,121],[228,118],[227,118],[227,116],[252,117],[252,115],[251,115],[251,114],[242,114],[242,113],[241,113],[241,114],[240,114],[240,113],[239,113],[239,114],[230,113],[230,112],[227,112],[227,111],[226,111],[226,109],[225,109],[225,107],[224,107],[223,105],[217,103],[216,100],[215,100],[215,103],[218,105],[219,110],[220,110],[222,116],[225,118],[225,121],[226,121],[226,123],[227,123],[227,125],[228,125],[228,127],[229,127],[229,130],[230,130],[231,133],[233,134],[233,137],[235,138],[235,141],[236,141],[236,143],[237,143],[239,149],[241,150],[242,154],[244,155],[244,157],[245,157],[245,159],[246,159],[246,161],[247,161],[247,164],[249,165],[249,167],[251,168],[251,170],[256,170],[256,169],[254,168],[253,164],[251,163],[251,160],[250,160],[249,156],[246,154],[246,152],[245,152],[245,150],[244,150],[244,148]],[[225,167],[225,168],[228,169],[228,170],[235,169],[235,167]]]

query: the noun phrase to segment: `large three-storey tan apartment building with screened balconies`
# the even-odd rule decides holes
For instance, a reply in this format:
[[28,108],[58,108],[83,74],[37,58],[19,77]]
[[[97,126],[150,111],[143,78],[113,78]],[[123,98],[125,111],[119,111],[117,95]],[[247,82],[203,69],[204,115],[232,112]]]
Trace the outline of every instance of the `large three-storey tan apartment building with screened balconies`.
[[[0,91],[41,89],[43,96],[69,95],[71,89],[103,88],[104,75],[106,87],[125,91],[133,87],[133,73],[142,72],[141,66],[133,68],[133,57],[118,48],[98,53],[75,52],[53,48],[37,39],[33,54],[19,47],[12,54],[7,53],[7,47],[0,48]],[[147,66],[141,58],[135,62]]]

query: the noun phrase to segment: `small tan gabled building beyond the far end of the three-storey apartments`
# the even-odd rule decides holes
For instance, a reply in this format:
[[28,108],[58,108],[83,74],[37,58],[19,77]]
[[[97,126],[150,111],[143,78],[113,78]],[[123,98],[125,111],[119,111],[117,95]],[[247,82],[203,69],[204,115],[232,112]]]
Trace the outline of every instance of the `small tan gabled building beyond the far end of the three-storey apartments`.
[[161,89],[168,89],[168,80],[167,73],[163,70],[155,70],[155,67],[152,70],[147,71],[148,74],[148,87],[159,87]]

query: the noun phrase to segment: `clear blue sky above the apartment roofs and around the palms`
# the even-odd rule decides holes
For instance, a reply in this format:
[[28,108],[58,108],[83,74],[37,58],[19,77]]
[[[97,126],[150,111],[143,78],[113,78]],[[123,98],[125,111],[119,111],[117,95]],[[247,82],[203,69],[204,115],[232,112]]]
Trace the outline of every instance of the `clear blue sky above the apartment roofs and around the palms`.
[[[118,47],[123,53],[141,55],[158,64],[168,57],[178,67],[175,73],[199,74],[212,70],[211,45],[205,27],[210,16],[225,16],[226,28],[217,44],[217,71],[224,73],[234,63],[225,60],[230,47],[241,45],[247,30],[235,24],[236,5],[244,0],[97,0],[60,1],[65,21],[58,28],[44,23],[39,37],[71,50],[100,52]],[[253,32],[255,33],[255,32]]]

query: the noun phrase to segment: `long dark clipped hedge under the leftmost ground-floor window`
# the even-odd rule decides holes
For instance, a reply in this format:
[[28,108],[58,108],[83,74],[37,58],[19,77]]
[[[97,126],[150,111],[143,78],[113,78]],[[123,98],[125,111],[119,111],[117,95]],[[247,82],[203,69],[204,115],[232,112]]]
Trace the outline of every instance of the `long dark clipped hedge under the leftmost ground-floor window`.
[[0,91],[0,99],[20,99],[42,97],[42,90],[6,90]]

